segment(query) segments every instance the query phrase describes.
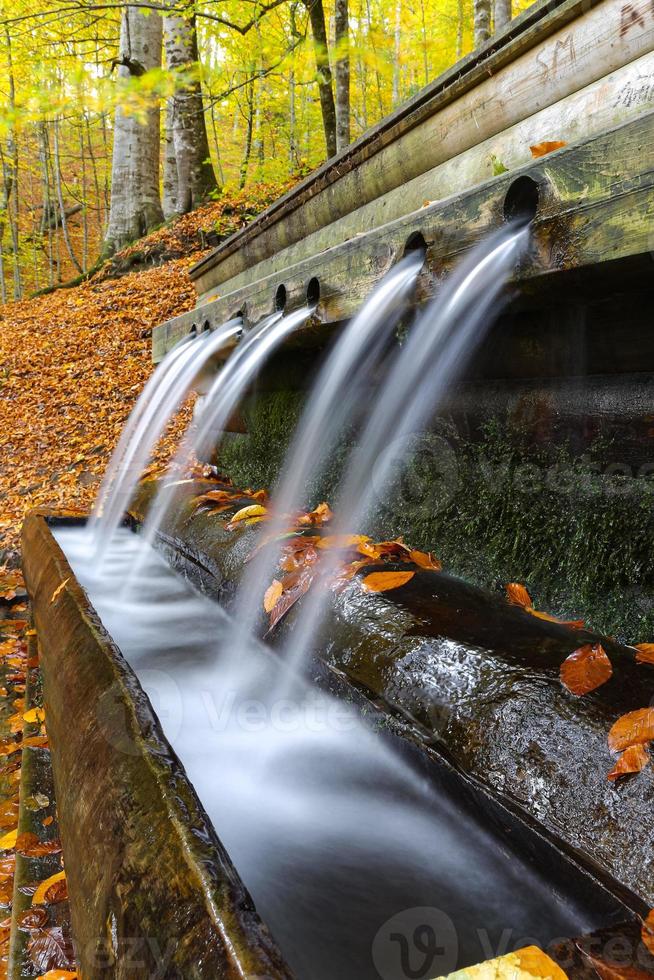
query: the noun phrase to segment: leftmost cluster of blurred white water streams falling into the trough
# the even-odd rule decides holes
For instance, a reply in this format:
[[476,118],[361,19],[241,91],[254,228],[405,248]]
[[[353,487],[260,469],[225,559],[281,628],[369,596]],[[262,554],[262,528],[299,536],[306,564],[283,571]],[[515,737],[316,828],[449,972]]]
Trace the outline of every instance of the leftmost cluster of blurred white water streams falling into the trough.
[[90,531],[95,539],[96,561],[102,561],[168,422],[205,365],[241,329],[240,318],[230,320],[213,333],[201,334],[175,348],[146,385],[121,435],[93,508]]

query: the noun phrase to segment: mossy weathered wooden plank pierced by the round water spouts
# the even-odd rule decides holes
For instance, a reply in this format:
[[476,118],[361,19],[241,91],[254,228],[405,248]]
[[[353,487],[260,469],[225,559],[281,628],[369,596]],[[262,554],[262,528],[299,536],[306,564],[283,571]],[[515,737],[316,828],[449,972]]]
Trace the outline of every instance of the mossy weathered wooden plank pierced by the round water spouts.
[[[329,324],[348,318],[416,233],[428,246],[424,298],[463,251],[502,223],[507,191],[518,177],[529,177],[538,185],[540,203],[531,253],[521,263],[516,282],[526,286],[562,270],[646,254],[652,248],[654,222],[654,160],[648,152],[653,132],[654,112],[648,112],[520,171],[310,256],[283,277],[288,308],[302,305],[309,282],[318,279],[316,320]],[[260,263],[251,276],[255,281],[244,285],[243,277],[237,277],[225,284],[223,296],[158,327],[153,334],[155,360],[194,324],[217,326],[238,311],[253,324],[270,313],[282,282],[274,260]]]

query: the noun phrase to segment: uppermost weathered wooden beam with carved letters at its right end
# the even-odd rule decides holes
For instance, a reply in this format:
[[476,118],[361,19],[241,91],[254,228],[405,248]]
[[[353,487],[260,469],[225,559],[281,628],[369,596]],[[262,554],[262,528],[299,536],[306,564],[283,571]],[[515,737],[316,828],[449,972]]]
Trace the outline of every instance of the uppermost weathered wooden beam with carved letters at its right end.
[[[565,17],[564,17],[565,14]],[[577,19],[571,25],[570,17]],[[301,240],[654,49],[651,0],[557,7],[232,236],[193,272],[198,292]],[[551,134],[565,139],[566,132]]]

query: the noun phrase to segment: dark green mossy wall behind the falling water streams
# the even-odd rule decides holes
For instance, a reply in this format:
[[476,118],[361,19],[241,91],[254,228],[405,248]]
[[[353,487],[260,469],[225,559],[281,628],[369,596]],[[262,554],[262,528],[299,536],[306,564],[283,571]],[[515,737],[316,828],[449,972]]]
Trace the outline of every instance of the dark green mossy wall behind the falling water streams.
[[[271,487],[303,395],[260,392],[244,410],[247,434],[228,435],[219,467],[237,486]],[[474,440],[450,420],[398,450],[396,479],[375,494],[368,526],[431,549],[448,571],[486,588],[520,581],[536,604],[630,643],[654,637],[654,482],[612,464],[606,440],[536,444],[533,433],[487,421]],[[331,454],[309,504],[334,502],[354,433]],[[401,453],[405,453],[401,457]]]

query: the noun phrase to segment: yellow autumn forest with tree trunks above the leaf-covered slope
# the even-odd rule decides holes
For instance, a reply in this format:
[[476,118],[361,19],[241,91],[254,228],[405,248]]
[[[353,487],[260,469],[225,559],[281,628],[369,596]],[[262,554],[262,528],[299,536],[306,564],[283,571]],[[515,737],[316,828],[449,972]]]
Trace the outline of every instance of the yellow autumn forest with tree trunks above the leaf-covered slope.
[[517,3],[2,3],[0,299],[83,277],[203,201],[274,196]]

